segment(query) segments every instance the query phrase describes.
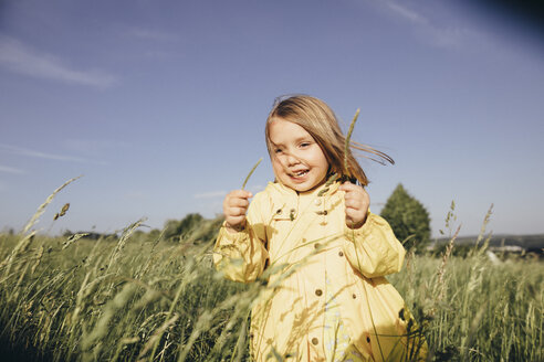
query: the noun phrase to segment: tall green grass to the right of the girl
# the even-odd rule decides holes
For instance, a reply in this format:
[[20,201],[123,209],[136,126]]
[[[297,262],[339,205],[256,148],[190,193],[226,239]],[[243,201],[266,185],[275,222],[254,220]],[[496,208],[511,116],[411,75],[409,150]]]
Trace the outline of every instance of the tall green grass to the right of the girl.
[[542,262],[451,257],[442,281],[440,259],[412,255],[408,263],[389,280],[422,323],[437,360],[544,360]]

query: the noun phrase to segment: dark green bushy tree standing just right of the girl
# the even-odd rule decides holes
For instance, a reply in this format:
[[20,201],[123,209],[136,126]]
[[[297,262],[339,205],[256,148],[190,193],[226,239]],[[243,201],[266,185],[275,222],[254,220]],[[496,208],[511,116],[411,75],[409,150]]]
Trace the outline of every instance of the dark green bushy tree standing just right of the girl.
[[430,237],[429,213],[419,201],[408,194],[401,183],[387,199],[380,215],[391,225],[405,248],[425,251]]

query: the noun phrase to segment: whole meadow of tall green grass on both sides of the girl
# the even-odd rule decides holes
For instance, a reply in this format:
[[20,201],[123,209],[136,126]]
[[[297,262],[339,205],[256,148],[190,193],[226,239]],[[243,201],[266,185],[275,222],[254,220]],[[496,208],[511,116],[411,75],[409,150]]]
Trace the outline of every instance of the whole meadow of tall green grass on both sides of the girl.
[[[57,190],[59,191],[59,190]],[[249,311],[263,279],[228,281],[211,259],[220,220],[179,235],[0,234],[2,355],[32,361],[248,361]],[[491,260],[483,230],[469,255],[408,253],[388,279],[431,361],[543,361],[544,264]]]

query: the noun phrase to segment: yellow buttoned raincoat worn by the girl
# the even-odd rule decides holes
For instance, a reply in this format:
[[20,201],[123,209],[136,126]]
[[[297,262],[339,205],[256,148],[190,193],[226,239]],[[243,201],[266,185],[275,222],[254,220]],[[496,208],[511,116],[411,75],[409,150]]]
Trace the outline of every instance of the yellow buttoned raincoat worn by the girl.
[[[251,202],[245,228],[219,233],[213,262],[227,278],[249,283],[279,269],[252,310],[255,361],[336,361],[346,351],[360,361],[400,361],[414,348],[399,318],[404,300],[384,278],[400,270],[405,249],[373,213],[360,228],[346,227],[338,185],[297,194],[270,182]],[[341,332],[349,345],[335,354]]]

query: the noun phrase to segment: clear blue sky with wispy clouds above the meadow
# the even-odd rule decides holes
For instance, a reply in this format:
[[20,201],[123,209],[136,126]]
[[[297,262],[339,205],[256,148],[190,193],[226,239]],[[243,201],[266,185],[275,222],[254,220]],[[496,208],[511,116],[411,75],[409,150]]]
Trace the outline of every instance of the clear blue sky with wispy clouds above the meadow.
[[[276,96],[327,102],[354,139],[374,212],[401,182],[432,233],[543,233],[544,41],[468,1],[0,2],[0,230],[113,232],[221,212],[273,179]],[[66,216],[52,223],[66,202]]]

